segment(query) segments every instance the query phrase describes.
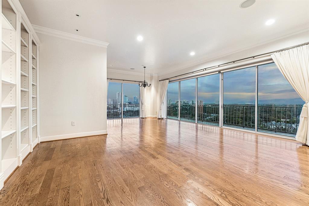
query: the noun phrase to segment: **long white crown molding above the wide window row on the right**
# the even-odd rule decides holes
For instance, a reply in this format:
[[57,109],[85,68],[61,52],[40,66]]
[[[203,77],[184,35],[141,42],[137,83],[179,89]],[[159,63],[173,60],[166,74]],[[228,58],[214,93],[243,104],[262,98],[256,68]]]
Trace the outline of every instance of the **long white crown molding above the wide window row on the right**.
[[[253,46],[248,46],[248,45],[244,45],[242,47],[245,47],[245,48],[240,48],[238,47],[238,49],[234,50],[234,51],[229,51],[227,52],[226,54],[222,54],[220,56],[217,56],[217,57],[214,57],[214,58],[209,58],[209,59],[205,59],[203,61],[200,61],[198,63],[193,63],[193,64],[188,64],[187,66],[184,66],[184,67],[179,67],[179,68],[175,68],[175,69],[172,69],[170,71],[167,71],[167,72],[163,72],[163,73],[159,73],[159,76],[162,76],[162,75],[167,75],[167,74],[171,74],[173,75],[174,72],[176,71],[179,71],[179,70],[183,70],[183,69],[186,69],[186,68],[189,68],[189,67],[194,67],[194,66],[198,66],[200,64],[204,64],[204,63],[207,63],[207,62],[210,62],[210,61],[213,61],[213,60],[216,60],[216,59],[219,59],[219,58],[222,58],[222,57],[226,57],[226,56],[229,56],[231,54],[236,54],[238,52],[242,52],[242,51],[245,51],[245,50],[248,50],[248,49],[252,49],[252,48],[255,48],[255,47],[258,47],[258,46],[261,46],[261,45],[265,45],[265,44],[269,44],[271,42],[274,42],[274,41],[278,41],[278,40],[281,40],[281,39],[284,39],[284,38],[287,38],[289,36],[294,36],[294,35],[297,35],[297,34],[300,34],[300,33],[303,33],[303,32],[308,32],[309,29],[302,29],[301,31],[298,31],[298,32],[294,32],[292,34],[288,34],[286,36],[281,36],[279,38],[276,38],[276,39],[273,39],[273,40],[270,40],[270,41],[266,41],[266,42],[263,42],[263,43],[260,43],[260,44],[256,44],[256,45],[253,45]],[[280,49],[280,48],[279,48]]]

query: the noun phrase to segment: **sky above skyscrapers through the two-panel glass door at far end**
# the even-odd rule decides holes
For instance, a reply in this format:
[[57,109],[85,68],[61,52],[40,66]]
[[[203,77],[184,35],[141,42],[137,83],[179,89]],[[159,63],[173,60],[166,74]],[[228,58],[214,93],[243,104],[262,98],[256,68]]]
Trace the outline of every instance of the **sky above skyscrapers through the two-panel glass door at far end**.
[[[109,82],[107,99],[116,99],[117,92],[121,92],[121,83]],[[128,99],[133,102],[133,96],[139,98],[139,86],[138,84],[123,83],[123,93],[128,96]]]

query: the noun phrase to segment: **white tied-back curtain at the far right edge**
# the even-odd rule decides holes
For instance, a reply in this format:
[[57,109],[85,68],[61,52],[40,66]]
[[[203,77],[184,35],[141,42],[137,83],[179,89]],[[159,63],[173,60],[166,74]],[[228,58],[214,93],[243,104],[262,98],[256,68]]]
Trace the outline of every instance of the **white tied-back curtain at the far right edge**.
[[271,57],[283,76],[305,101],[296,140],[309,145],[309,45],[281,51]]

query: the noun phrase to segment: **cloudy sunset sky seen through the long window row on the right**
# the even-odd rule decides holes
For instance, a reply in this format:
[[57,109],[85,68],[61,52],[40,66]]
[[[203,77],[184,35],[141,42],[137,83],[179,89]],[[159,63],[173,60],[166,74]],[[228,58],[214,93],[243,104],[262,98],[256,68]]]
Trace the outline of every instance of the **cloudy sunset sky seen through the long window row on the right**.
[[[224,73],[224,104],[250,104],[255,102],[256,67]],[[215,103],[219,100],[219,74],[198,78],[198,100]],[[195,79],[180,82],[180,100],[195,102]],[[178,100],[178,82],[170,83],[167,99]],[[258,104],[302,105],[304,101],[287,82],[275,63],[258,66]]]

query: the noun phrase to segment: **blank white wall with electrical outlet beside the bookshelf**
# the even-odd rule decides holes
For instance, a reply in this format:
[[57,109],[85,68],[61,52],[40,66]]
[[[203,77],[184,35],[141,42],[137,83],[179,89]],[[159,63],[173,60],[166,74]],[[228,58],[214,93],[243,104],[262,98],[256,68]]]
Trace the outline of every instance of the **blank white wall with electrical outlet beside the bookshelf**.
[[106,48],[38,36],[41,141],[106,134]]

